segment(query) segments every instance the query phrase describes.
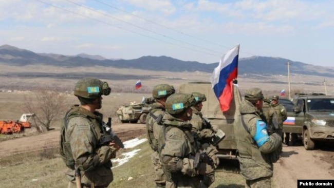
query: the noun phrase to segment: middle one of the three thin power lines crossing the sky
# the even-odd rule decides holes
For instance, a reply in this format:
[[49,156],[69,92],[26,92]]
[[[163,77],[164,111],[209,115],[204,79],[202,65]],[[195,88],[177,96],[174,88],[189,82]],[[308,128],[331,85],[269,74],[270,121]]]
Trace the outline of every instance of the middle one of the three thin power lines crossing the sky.
[[86,7],[86,6],[84,6],[84,5],[78,4],[78,3],[76,3],[76,2],[72,2],[72,1],[70,1],[70,0],[65,0],[65,1],[70,2],[70,3],[72,3],[72,4],[75,4],[75,5],[77,5],[77,6],[83,7],[83,8],[85,8],[85,9],[90,10],[90,11],[93,11],[93,12],[96,12],[96,13],[99,13],[99,14],[102,14],[102,15],[104,15],[104,16],[113,18],[113,19],[115,19],[115,20],[117,20],[117,21],[120,21],[120,22],[129,24],[129,25],[134,26],[134,27],[136,27],[136,28],[139,28],[139,29],[142,29],[142,30],[145,30],[145,31],[149,31],[149,32],[152,32],[152,33],[154,33],[154,34],[161,35],[161,36],[163,36],[163,37],[166,37],[166,38],[171,39],[171,40],[174,40],[174,41],[177,41],[177,42],[180,42],[180,43],[185,43],[185,44],[188,44],[188,45],[190,45],[190,46],[197,47],[197,48],[205,49],[205,50],[208,50],[208,51],[217,53],[217,54],[220,54],[220,53],[221,53],[221,52],[213,51],[213,50],[211,50],[211,49],[208,49],[208,48],[205,48],[205,47],[202,47],[202,46],[198,46],[198,45],[194,45],[194,44],[191,44],[191,43],[188,43],[188,42],[184,42],[184,41],[181,41],[181,40],[177,40],[177,39],[175,39],[175,38],[173,38],[173,37],[170,37],[170,36],[167,36],[167,35],[164,35],[164,34],[161,34],[161,33],[155,32],[155,31],[152,31],[152,30],[150,30],[150,29],[146,29],[146,28],[144,28],[144,27],[137,26],[137,25],[135,25],[135,24],[132,24],[132,23],[123,21],[123,20],[121,20],[121,19],[119,19],[119,18],[117,18],[117,17],[111,16],[111,15],[109,15],[109,14],[104,14],[104,13],[102,13],[102,12],[96,11],[96,10],[91,9],[91,8],[89,8],[89,7]]

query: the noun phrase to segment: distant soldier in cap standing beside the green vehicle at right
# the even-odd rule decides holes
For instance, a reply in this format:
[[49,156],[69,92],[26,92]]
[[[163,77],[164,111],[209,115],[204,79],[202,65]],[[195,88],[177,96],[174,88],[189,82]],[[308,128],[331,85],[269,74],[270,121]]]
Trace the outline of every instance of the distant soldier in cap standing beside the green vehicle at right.
[[275,131],[282,137],[283,141],[283,122],[288,118],[286,109],[282,104],[280,104],[279,96],[272,96],[271,106],[272,108],[269,110],[269,122],[272,122],[275,114],[277,116],[277,125],[279,127]]

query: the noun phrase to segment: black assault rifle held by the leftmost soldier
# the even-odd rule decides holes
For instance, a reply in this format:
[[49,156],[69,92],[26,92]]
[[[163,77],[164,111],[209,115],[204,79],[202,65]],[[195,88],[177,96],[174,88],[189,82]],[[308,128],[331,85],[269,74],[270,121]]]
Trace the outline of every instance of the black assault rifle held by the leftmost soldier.
[[112,118],[108,118],[108,122],[103,122],[102,126],[107,134],[101,137],[99,141],[99,146],[109,145],[110,142],[114,141],[114,143],[117,144],[120,148],[124,148],[123,142],[112,130]]

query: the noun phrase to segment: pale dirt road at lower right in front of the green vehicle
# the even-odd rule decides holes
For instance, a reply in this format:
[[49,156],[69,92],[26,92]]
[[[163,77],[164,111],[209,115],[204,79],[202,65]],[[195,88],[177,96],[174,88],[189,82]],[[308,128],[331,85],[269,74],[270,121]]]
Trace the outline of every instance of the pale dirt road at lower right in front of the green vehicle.
[[274,164],[276,188],[297,187],[298,179],[334,179],[334,152],[329,146],[306,151],[303,146],[283,147]]

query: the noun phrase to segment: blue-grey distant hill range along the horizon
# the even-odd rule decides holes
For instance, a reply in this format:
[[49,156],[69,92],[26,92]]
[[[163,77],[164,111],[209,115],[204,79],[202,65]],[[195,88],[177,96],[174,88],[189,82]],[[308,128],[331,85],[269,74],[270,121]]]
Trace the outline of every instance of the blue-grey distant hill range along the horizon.
[[[282,74],[287,75],[287,62],[290,60],[272,57],[250,57],[239,59],[239,74]],[[334,69],[314,66],[302,62],[291,62],[291,73],[334,77]],[[195,61],[181,61],[171,57],[144,56],[133,60],[109,60],[100,55],[78,54],[61,55],[34,53],[10,45],[0,46],[0,64],[14,66],[53,65],[64,67],[111,66],[116,68],[143,69],[157,71],[203,71],[212,72],[218,63],[205,64]]]

